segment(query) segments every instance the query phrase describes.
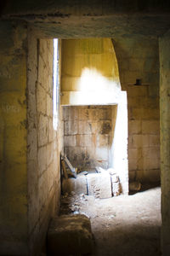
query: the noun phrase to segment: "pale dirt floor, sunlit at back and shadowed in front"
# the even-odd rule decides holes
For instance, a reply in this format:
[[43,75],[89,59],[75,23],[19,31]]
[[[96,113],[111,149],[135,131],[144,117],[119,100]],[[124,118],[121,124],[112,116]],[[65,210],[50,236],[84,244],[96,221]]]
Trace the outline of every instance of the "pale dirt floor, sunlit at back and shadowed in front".
[[134,195],[95,199],[65,195],[60,214],[84,213],[92,224],[97,256],[158,256],[161,230],[161,189]]

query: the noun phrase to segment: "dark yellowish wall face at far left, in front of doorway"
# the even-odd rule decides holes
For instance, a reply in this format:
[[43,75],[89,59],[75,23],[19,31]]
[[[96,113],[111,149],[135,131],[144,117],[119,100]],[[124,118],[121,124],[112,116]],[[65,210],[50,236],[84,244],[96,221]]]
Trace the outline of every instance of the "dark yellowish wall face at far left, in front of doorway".
[[26,24],[0,22],[0,254],[27,254]]

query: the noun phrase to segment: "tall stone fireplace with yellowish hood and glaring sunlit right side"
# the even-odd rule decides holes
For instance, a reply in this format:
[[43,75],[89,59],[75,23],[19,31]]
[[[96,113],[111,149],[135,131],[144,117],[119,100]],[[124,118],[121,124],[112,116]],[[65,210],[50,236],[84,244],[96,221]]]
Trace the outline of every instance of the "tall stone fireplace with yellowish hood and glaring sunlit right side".
[[113,168],[128,193],[127,93],[111,38],[62,41],[64,153],[79,171]]

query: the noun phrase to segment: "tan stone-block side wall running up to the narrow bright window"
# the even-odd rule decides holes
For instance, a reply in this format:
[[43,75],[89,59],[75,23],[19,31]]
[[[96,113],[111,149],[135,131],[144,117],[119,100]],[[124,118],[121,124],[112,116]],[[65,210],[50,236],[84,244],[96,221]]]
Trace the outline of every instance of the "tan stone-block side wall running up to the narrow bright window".
[[52,39],[29,31],[28,224],[30,253],[42,247],[49,219],[59,210],[59,143],[53,127]]

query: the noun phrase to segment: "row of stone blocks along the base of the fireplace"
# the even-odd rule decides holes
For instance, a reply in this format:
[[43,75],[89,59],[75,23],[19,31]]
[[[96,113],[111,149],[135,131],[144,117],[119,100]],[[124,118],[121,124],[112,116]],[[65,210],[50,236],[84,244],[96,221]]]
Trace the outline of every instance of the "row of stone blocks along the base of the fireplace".
[[105,170],[96,167],[96,172],[80,172],[77,178],[69,177],[62,180],[62,192],[77,195],[94,195],[95,198],[110,198],[121,194],[119,177],[113,168]]

